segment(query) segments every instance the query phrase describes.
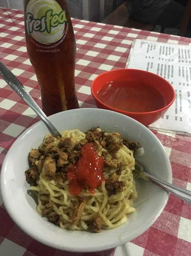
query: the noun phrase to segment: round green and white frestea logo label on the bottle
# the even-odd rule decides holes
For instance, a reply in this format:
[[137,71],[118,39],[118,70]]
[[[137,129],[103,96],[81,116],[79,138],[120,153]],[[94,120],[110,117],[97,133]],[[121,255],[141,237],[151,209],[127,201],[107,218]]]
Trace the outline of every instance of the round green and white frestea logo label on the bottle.
[[49,45],[66,33],[66,11],[56,0],[30,0],[26,7],[25,26],[29,36]]

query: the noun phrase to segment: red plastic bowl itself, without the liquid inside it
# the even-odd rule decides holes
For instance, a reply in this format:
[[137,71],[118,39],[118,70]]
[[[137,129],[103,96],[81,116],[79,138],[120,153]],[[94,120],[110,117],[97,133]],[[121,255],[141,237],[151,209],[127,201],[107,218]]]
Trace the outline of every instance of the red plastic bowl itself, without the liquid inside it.
[[[157,88],[165,97],[166,106],[164,108],[152,112],[129,112],[112,108],[111,106],[106,105],[104,102],[101,102],[101,100],[97,97],[98,91],[104,85],[106,85],[107,82],[111,82],[114,80],[117,81],[118,79],[133,79],[137,80],[138,82],[144,82],[144,84]],[[154,123],[156,120],[162,117],[162,115],[165,114],[167,109],[172,105],[172,103],[175,100],[175,90],[169,82],[167,82],[161,76],[138,69],[116,69],[98,75],[91,85],[91,93],[93,94],[95,103],[98,108],[109,109],[112,111],[128,115],[129,117],[134,118],[135,120],[139,121],[145,126]]]

